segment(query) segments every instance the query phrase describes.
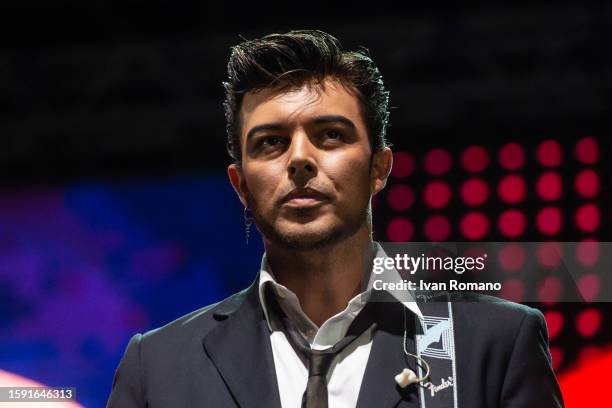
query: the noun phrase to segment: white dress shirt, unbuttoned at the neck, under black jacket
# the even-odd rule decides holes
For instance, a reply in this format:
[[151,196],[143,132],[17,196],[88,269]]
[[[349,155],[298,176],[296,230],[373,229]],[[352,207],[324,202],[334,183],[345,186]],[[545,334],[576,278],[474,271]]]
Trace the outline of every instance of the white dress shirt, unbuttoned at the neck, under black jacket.
[[[375,256],[386,256],[382,247],[375,243]],[[397,274],[397,271],[395,271]],[[398,281],[401,279],[397,274]],[[353,319],[365,306],[372,289],[366,290],[352,298],[346,309],[323,322],[321,327],[310,320],[302,310],[294,292],[276,282],[264,253],[259,275],[259,299],[261,301],[268,327],[270,342],[276,368],[281,406],[283,408],[300,408],[302,395],[308,382],[308,367],[287,340],[282,326],[272,315],[263,301],[266,285],[272,285],[278,303],[283,312],[302,333],[313,349],[326,349],[340,341],[348,331]],[[371,285],[368,285],[371,287]],[[392,295],[395,296],[391,292]],[[398,298],[412,313],[419,317],[422,314],[415,302]],[[372,348],[372,329],[368,329],[345,347],[335,357],[327,375],[328,403],[330,408],[354,408],[361,388],[361,380]]]

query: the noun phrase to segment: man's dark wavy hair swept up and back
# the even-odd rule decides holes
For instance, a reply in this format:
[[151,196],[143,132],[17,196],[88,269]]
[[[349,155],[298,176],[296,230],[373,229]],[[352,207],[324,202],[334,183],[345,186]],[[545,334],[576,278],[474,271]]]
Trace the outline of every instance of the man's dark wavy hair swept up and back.
[[357,91],[372,154],[388,145],[389,92],[367,48],[344,51],[338,39],[319,30],[270,34],[233,46],[227,73],[228,80],[223,82],[227,151],[238,166],[242,163],[239,112],[244,95],[271,87],[299,88],[327,77]]

